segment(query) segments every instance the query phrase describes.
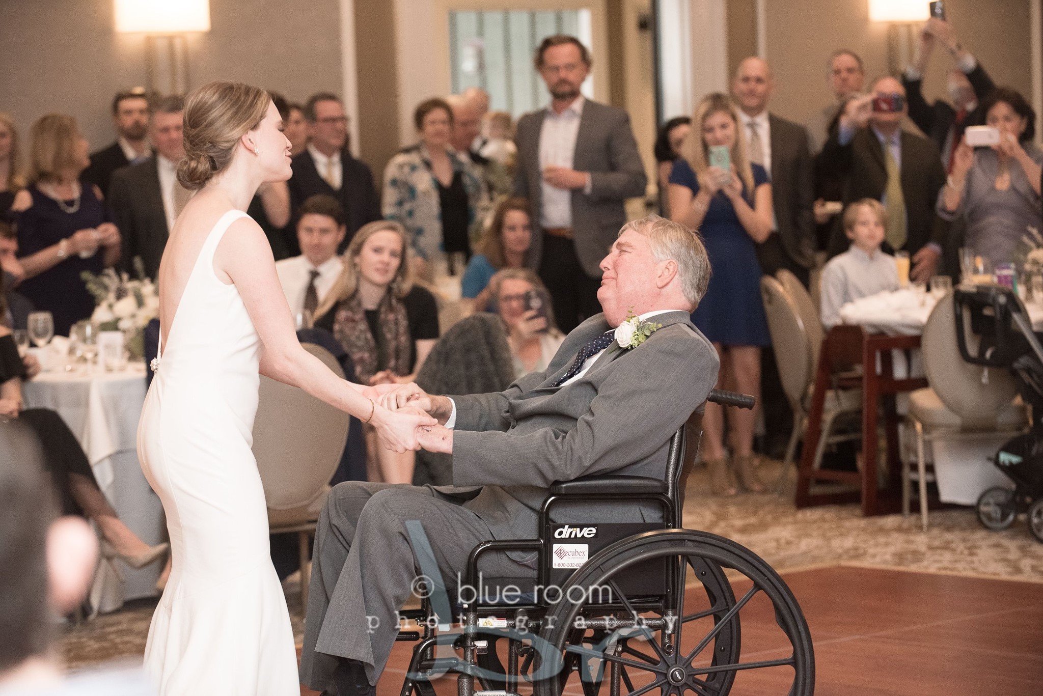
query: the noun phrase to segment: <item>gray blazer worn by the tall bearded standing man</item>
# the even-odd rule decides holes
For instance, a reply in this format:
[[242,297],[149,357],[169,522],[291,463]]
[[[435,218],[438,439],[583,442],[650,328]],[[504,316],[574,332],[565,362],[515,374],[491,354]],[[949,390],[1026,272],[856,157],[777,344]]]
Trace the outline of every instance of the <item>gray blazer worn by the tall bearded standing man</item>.
[[[547,110],[540,110],[523,116],[514,137],[518,150],[514,193],[530,202],[533,236],[529,265],[537,269],[543,246],[539,226],[539,131],[545,114]],[[601,278],[598,264],[627,221],[623,200],[645,195],[648,184],[627,112],[589,99],[584,103],[573,169],[590,172],[591,185],[590,195],[583,189],[572,192],[576,256],[588,275]]]

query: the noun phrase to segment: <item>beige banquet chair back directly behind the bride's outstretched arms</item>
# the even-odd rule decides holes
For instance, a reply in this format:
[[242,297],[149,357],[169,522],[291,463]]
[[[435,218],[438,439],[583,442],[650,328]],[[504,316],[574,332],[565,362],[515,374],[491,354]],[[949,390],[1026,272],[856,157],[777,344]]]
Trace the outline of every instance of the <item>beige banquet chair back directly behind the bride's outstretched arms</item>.
[[[344,371],[323,347],[302,343],[341,379]],[[253,456],[268,505],[269,532],[296,532],[300,542],[300,600],[308,607],[308,546],[330,479],[347,440],[347,413],[297,387],[261,378],[253,421]]]

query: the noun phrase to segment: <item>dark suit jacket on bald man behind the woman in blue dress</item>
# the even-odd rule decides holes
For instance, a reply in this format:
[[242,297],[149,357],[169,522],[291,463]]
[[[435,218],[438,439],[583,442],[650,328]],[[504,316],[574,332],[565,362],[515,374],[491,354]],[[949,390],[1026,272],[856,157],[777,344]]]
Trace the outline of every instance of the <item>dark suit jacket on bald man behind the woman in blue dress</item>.
[[815,161],[807,131],[769,114],[772,133],[772,199],[782,246],[804,268],[815,265]]

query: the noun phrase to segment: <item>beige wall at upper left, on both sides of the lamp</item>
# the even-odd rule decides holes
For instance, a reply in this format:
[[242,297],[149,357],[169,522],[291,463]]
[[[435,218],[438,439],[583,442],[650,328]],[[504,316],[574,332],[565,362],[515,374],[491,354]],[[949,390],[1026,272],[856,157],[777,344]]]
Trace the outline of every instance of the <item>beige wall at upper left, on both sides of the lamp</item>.
[[[307,13],[292,0],[210,5],[211,31],[189,42],[193,86],[242,80],[292,100],[341,92],[338,0],[308,0]],[[113,25],[112,0],[0,0],[0,111],[23,134],[46,113],[72,114],[92,148],[110,143],[113,95],[145,83],[144,39]]]

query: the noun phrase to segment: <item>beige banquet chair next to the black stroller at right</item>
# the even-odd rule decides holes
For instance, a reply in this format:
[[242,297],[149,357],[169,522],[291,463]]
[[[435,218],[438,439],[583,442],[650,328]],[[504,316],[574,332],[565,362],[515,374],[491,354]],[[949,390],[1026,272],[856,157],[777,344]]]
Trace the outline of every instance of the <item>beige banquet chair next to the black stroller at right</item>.
[[[969,320],[969,319],[965,319]],[[979,339],[968,331],[967,347],[976,354]],[[916,433],[920,519],[927,531],[927,464],[925,443],[941,439],[975,439],[1015,433],[1028,426],[1017,385],[1005,369],[965,362],[956,343],[956,317],[950,292],[935,306],[920,343],[923,369],[930,385],[909,394],[906,416]],[[986,377],[984,373],[988,370]],[[902,462],[902,514],[908,514],[912,473]]]

